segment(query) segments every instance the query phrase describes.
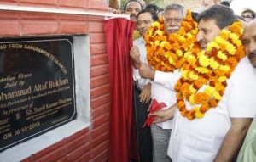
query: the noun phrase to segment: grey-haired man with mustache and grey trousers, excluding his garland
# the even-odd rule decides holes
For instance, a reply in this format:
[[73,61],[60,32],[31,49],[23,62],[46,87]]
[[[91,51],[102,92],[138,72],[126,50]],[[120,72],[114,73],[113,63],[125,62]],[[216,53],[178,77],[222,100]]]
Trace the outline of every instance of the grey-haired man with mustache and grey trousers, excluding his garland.
[[[166,6],[164,11],[164,31],[167,36],[175,33],[181,27],[183,18],[186,15],[186,10],[183,6],[172,3]],[[176,103],[175,92],[162,82],[168,80],[170,73],[155,71],[149,67],[148,64],[141,63],[139,54],[131,54],[134,67],[144,71],[143,77],[154,80],[151,82],[151,96],[152,99],[158,103],[165,103],[168,109]],[[177,76],[180,74],[175,72]],[[155,76],[154,76],[155,75]],[[142,75],[141,75],[142,76]],[[166,79],[167,78],[167,79]],[[177,77],[178,78],[178,77]],[[173,111],[174,109],[171,109]],[[159,122],[151,125],[151,132],[153,137],[153,158],[154,162],[170,162],[171,159],[167,155],[167,148],[169,145],[170,135],[172,131],[172,120]]]

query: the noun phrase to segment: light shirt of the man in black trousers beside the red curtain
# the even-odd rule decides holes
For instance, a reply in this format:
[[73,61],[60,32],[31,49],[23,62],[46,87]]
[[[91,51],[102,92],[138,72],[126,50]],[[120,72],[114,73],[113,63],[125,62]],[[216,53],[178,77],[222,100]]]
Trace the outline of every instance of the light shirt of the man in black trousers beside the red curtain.
[[[147,48],[146,48],[146,42],[143,38],[143,36],[137,38],[137,40],[133,41],[133,46],[137,46],[139,53],[140,53],[140,60],[143,63],[148,64],[147,61]],[[143,90],[143,88],[150,82],[149,79],[144,79],[139,74],[139,70],[136,70],[133,68],[133,81],[136,82],[137,88],[139,90]]]

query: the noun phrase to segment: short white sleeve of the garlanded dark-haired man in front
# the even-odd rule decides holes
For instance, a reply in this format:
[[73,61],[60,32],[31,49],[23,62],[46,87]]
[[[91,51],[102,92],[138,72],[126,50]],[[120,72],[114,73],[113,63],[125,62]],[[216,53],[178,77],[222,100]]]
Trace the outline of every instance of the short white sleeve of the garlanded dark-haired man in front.
[[256,114],[256,69],[247,57],[241,59],[228,81],[227,107],[230,117],[253,118]]

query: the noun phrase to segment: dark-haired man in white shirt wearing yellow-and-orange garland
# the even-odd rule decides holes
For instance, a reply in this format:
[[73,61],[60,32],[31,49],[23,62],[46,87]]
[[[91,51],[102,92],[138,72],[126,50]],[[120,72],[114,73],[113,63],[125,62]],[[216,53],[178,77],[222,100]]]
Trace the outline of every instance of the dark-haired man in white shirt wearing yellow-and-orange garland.
[[[239,35],[236,30],[232,31],[236,26],[241,31],[241,25],[235,23],[236,16],[230,8],[212,6],[201,12],[198,20],[196,39],[201,51],[195,52],[197,46],[189,50],[197,53],[198,60],[196,64],[183,65],[183,75],[176,85],[178,111],[173,121],[168,155],[179,162],[232,161],[236,159],[256,114],[255,70],[247,57],[237,59],[234,67],[227,61],[232,57],[240,58],[242,52],[238,50],[241,46]],[[225,34],[229,32],[229,35]],[[235,35],[238,44],[229,39]],[[219,47],[228,45],[227,48]],[[234,51],[231,52],[230,48]],[[218,54],[214,55],[212,49],[218,50]],[[205,69],[201,71],[199,68]],[[205,80],[203,84],[196,87],[198,84],[195,83],[202,80]]]

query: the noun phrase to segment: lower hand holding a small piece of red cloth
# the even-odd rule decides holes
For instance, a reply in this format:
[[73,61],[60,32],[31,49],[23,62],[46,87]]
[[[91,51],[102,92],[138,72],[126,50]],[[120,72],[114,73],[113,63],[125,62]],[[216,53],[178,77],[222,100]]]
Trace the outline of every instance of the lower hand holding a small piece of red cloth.
[[175,109],[177,108],[177,104],[172,105],[168,109],[160,109],[151,113],[150,115],[154,115],[154,122],[153,123],[160,123],[166,120],[171,120],[174,117]]

